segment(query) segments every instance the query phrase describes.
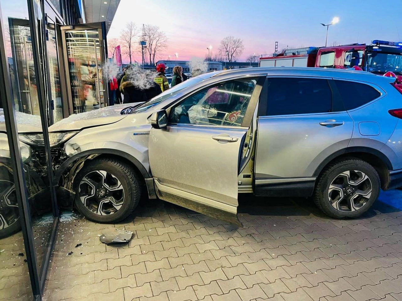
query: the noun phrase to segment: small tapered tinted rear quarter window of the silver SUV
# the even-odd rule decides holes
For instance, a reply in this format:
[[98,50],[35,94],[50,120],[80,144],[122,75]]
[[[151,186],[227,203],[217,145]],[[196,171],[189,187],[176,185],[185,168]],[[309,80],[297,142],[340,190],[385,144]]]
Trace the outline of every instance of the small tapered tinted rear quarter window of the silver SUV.
[[381,96],[376,89],[365,83],[335,80],[346,110],[352,110],[367,104]]

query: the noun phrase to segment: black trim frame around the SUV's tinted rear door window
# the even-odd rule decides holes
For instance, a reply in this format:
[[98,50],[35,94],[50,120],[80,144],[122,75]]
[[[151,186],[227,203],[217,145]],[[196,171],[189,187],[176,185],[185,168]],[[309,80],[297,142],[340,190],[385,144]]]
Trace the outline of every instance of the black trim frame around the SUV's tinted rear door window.
[[[267,115],[267,102],[268,102],[268,79],[269,78],[308,78],[308,79],[326,79],[328,82],[328,87],[332,92],[332,106],[331,110],[334,108],[343,108],[343,111],[336,112],[320,112],[320,113],[301,113],[301,114],[285,114],[285,115]],[[260,102],[258,104],[258,115],[257,118],[275,118],[275,117],[285,117],[285,116],[311,116],[311,115],[323,115],[323,114],[338,114],[338,113],[346,113],[346,110],[343,105],[342,98],[338,92],[338,89],[335,86],[335,83],[332,82],[332,77],[320,77],[320,76],[300,76],[300,75],[269,75],[265,80],[263,85],[263,89],[261,91]],[[335,89],[334,89],[335,88]],[[263,101],[262,101],[263,100]]]

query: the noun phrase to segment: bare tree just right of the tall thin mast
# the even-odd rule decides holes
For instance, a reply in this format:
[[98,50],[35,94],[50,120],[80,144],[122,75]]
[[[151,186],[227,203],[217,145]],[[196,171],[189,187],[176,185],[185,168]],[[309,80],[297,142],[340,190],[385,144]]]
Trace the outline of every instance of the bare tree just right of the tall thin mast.
[[146,24],[143,29],[144,41],[146,41],[146,51],[149,56],[149,63],[155,65],[155,56],[166,48],[167,37],[158,26]]

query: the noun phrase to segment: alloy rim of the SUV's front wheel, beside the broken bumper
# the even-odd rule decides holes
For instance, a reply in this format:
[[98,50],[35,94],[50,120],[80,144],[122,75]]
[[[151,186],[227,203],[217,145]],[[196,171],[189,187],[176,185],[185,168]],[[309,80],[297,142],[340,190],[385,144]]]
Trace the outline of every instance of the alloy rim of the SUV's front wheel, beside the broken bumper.
[[80,181],[78,193],[84,206],[101,216],[116,213],[123,205],[125,197],[119,179],[103,170],[87,173]]

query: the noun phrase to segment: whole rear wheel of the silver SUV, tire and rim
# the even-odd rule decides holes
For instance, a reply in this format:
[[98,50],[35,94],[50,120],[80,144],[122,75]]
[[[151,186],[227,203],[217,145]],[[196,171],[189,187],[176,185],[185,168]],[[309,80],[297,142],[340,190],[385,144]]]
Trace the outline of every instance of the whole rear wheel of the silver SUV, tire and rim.
[[357,158],[330,164],[316,185],[314,201],[332,218],[357,218],[379,195],[380,179],[369,163]]

